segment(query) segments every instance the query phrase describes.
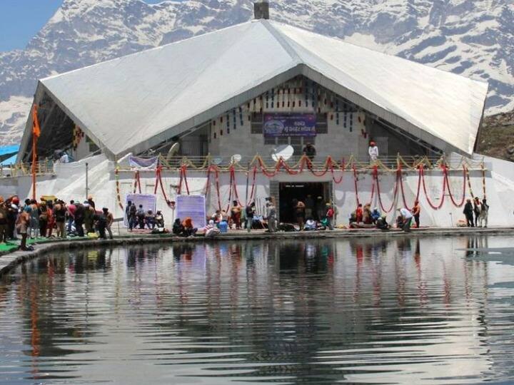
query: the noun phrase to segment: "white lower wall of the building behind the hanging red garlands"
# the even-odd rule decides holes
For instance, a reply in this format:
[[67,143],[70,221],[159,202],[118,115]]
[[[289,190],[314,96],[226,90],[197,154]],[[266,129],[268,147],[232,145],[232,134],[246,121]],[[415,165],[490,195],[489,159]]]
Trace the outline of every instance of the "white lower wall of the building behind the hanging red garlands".
[[[73,165],[73,164],[71,164]],[[59,173],[56,177],[46,176],[44,178],[38,178],[37,183],[37,195],[56,195],[61,199],[69,201],[83,200],[85,198],[85,168],[82,165],[75,166],[62,165],[56,168]],[[503,163],[502,163],[503,165]],[[495,172],[494,165],[491,163],[493,170],[488,172],[486,178],[486,193],[490,205],[490,225],[512,225],[514,216],[514,181],[499,173]],[[426,171],[426,188],[430,200],[435,204],[438,204],[440,197],[441,188],[443,185],[443,176],[440,170],[427,170]],[[335,172],[336,178],[339,178],[341,173]],[[381,174],[379,176],[381,181],[381,197],[383,205],[390,207],[393,198],[393,186],[395,176],[393,173]],[[471,185],[473,193],[479,197],[482,197],[482,172],[480,170],[470,171]],[[358,175],[358,190],[361,202],[366,203],[371,199],[371,185],[372,176],[371,172],[359,173]],[[166,195],[169,200],[176,200],[178,180],[178,171],[163,171],[162,180]],[[222,172],[219,174],[219,185],[221,195],[221,205],[225,209],[228,206],[229,200],[229,180],[230,175],[228,172]],[[323,177],[316,177],[312,175],[308,170],[304,171],[301,175],[288,175],[286,173],[280,173],[271,179],[268,179],[261,173],[257,174],[256,177],[256,197],[263,200],[265,197],[270,195],[269,182],[270,180],[276,180],[278,182],[329,182],[332,180],[331,173],[327,173]],[[415,171],[406,172],[403,175],[404,188],[405,188],[405,200],[408,205],[412,205],[415,199],[417,187],[418,187],[418,174]],[[133,192],[134,172],[133,171],[121,171],[119,173],[121,199],[125,200],[125,195]],[[188,171],[188,185],[191,194],[201,194],[206,188],[206,172],[189,170]],[[155,188],[156,177],[154,171],[141,171],[141,192],[142,193],[153,193]],[[210,192],[206,197],[207,200],[207,212],[211,214],[218,207],[218,199],[216,196],[216,178],[215,175],[211,174],[210,179]],[[450,173],[450,185],[455,195],[455,200],[460,200],[462,197],[462,184],[463,184],[463,173],[461,170],[454,170]],[[238,171],[236,173],[236,185],[238,195],[243,204],[246,203],[246,173]],[[250,194],[252,185],[252,178],[250,175],[248,184],[248,195]],[[96,158],[91,160],[91,168],[89,169],[89,187],[91,195],[94,196],[98,207],[109,207],[116,217],[122,217],[124,212],[118,205],[116,200],[116,178],[114,173],[114,163],[109,160]],[[468,186],[466,186],[467,195],[469,196]],[[183,193],[186,188],[183,185]],[[339,210],[338,223],[347,224],[350,213],[355,210],[357,202],[355,189],[353,184],[353,173],[346,171],[344,173],[343,181],[339,184],[334,184],[334,201]],[[0,179],[0,195],[9,196],[17,193],[21,199],[31,196],[31,178],[1,178]],[[231,200],[234,199],[232,195]],[[378,197],[375,194],[373,197],[372,207],[378,207]],[[433,210],[428,205],[423,188],[420,193],[420,205],[422,207],[421,213],[421,224],[425,226],[438,226],[448,227],[450,223],[455,225],[455,222],[459,219],[463,219],[463,207],[454,207],[450,202],[449,197],[445,197],[445,203],[440,210]],[[394,208],[403,206],[403,200],[399,199],[394,202]],[[174,220],[175,212],[171,210],[161,193],[161,188],[157,190],[157,207],[158,210],[162,210],[163,215],[166,218],[166,225],[171,227],[171,223]],[[451,213],[451,216],[450,216]],[[389,220],[392,220],[396,214],[391,213],[388,216]]]

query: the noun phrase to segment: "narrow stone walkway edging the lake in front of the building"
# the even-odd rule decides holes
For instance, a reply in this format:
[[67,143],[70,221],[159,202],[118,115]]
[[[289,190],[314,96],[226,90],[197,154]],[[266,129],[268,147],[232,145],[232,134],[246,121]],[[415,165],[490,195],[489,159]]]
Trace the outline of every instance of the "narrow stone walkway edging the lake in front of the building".
[[303,231],[303,232],[276,232],[270,234],[265,230],[231,230],[220,234],[216,238],[205,238],[203,236],[180,238],[171,234],[150,234],[148,232],[129,232],[122,229],[114,240],[97,240],[87,238],[68,238],[66,240],[45,240],[42,243],[35,243],[33,251],[7,251],[0,252],[0,275],[6,274],[20,263],[31,260],[46,252],[57,250],[73,250],[84,248],[96,248],[105,246],[142,245],[162,242],[216,242],[218,240],[283,240],[283,239],[311,239],[311,238],[354,238],[354,237],[448,237],[448,236],[483,236],[483,235],[514,235],[514,227],[448,227],[448,228],[420,228],[413,229],[410,233],[401,230],[391,229],[387,231],[377,229],[344,229],[332,231]]

